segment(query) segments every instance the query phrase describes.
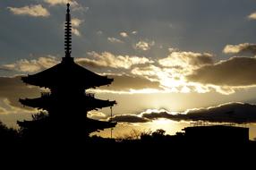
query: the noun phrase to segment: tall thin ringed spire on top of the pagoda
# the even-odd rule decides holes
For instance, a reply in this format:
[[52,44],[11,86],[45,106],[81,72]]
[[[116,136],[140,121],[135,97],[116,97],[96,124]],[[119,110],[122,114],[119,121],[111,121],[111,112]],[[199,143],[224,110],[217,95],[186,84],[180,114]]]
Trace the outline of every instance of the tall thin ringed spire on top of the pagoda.
[[65,15],[65,35],[64,35],[64,49],[65,49],[65,57],[71,57],[71,43],[72,43],[72,23],[70,16],[70,4],[66,4],[66,15]]

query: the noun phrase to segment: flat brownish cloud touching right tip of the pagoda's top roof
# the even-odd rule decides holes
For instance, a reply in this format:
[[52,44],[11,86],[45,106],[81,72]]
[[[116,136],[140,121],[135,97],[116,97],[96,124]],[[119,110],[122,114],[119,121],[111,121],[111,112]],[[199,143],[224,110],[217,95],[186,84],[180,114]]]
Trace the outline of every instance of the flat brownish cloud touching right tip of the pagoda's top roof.
[[141,77],[132,77],[130,75],[115,75],[108,76],[114,79],[114,82],[108,87],[100,89],[109,90],[129,90],[129,89],[161,89],[159,82],[149,81]]

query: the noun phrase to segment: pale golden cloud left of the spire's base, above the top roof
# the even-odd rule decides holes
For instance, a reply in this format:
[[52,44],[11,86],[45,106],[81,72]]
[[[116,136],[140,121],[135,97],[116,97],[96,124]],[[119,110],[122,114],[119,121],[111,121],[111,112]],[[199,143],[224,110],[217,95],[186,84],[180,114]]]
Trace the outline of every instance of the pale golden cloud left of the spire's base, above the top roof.
[[4,69],[13,70],[17,72],[38,72],[58,63],[55,56],[47,55],[46,57],[38,57],[38,59],[21,59],[14,64],[4,64]]

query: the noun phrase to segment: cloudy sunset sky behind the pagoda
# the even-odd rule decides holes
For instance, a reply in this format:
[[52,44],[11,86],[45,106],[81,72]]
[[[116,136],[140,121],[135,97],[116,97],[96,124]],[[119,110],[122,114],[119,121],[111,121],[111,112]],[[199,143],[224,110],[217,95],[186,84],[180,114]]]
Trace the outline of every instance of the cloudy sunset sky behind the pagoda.
[[[42,90],[21,76],[64,56],[66,3],[0,0],[0,119],[9,126],[38,112],[18,102]],[[133,128],[174,134],[207,121],[246,123],[256,137],[255,0],[70,3],[76,63],[115,79],[89,91],[116,100],[116,136]],[[89,114],[109,115],[109,108]]]

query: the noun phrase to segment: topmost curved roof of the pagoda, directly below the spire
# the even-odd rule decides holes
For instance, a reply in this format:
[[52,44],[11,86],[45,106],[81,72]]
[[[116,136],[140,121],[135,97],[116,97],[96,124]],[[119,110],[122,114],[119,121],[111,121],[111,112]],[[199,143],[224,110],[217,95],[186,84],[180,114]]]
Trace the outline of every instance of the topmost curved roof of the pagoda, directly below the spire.
[[21,77],[25,83],[54,89],[54,88],[81,88],[89,89],[110,84],[113,79],[90,72],[73,62],[73,57],[64,57],[60,64],[27,77]]

